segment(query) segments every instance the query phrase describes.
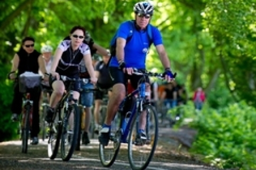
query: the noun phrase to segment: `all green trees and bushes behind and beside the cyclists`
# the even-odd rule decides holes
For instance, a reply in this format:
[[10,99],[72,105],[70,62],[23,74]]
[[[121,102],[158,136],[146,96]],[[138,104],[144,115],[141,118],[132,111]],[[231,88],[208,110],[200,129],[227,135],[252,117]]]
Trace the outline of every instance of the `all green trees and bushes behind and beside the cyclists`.
[[[0,110],[1,136],[15,134],[11,123],[12,83],[6,80],[15,51],[24,36],[36,38],[39,51],[45,43],[54,48],[75,25],[82,25],[94,41],[108,47],[120,22],[133,19],[137,0],[2,0],[0,3]],[[151,23],[159,28],[171,68],[188,93],[202,86],[207,102],[198,117],[193,103],[183,106],[185,118],[198,118],[200,133],[194,148],[221,167],[253,167],[256,106],[256,22],[253,0],[153,0]],[[154,48],[147,68],[162,71]],[[231,93],[230,93],[231,92]],[[214,108],[209,109],[208,108]],[[222,109],[221,109],[222,108]],[[177,110],[171,110],[174,116]],[[232,123],[230,123],[232,122]],[[15,136],[15,135],[14,135]],[[238,156],[240,153],[240,157]],[[255,155],[255,153],[254,153]],[[238,162],[234,164],[234,162]],[[248,166],[248,167],[246,167]]]

